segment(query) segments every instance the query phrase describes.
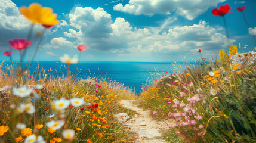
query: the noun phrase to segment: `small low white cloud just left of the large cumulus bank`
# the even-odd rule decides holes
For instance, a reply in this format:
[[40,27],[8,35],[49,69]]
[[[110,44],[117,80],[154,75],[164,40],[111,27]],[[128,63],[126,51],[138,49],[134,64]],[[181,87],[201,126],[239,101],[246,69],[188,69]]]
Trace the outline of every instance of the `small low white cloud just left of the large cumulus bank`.
[[72,48],[73,47],[72,42],[68,41],[66,38],[63,38],[63,37],[53,38],[53,39],[51,39],[50,42],[51,42],[51,44],[46,43],[45,45],[42,46],[42,48],[57,49],[57,48],[60,48],[60,47],[64,47],[64,48],[66,48],[66,47],[67,48]]

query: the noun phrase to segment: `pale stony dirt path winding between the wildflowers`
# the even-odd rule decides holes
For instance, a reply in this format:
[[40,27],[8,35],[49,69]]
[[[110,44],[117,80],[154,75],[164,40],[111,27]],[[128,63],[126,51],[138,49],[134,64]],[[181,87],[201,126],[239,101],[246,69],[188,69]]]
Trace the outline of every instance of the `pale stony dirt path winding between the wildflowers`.
[[140,113],[124,123],[124,126],[131,128],[131,132],[137,133],[138,138],[135,142],[143,142],[144,140],[144,142],[149,143],[164,143],[165,141],[162,139],[160,132],[162,128],[166,127],[166,123],[153,120],[152,114],[132,104],[134,101],[135,100],[122,100],[120,104],[125,108]]

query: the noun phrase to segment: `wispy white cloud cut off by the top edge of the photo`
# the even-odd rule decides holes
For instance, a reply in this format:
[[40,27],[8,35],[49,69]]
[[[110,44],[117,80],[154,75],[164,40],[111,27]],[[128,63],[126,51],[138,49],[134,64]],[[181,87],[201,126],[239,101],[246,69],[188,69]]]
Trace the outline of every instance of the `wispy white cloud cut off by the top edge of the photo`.
[[113,7],[116,11],[127,12],[135,15],[171,14],[175,12],[189,20],[205,13],[209,7],[216,7],[218,3],[226,0],[129,0],[128,4],[117,4]]

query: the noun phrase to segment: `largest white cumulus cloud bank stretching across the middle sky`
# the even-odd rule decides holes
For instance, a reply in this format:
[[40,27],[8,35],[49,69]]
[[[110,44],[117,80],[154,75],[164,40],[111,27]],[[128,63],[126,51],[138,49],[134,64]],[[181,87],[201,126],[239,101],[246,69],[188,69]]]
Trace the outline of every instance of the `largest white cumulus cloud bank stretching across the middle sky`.
[[[220,27],[209,26],[200,21],[192,26],[177,26],[170,28],[169,18],[159,27],[132,27],[124,18],[111,20],[103,8],[96,10],[89,7],[78,7],[69,14],[73,29],[64,32],[70,38],[78,38],[95,51],[110,51],[116,53],[158,53],[184,52],[202,48],[213,51],[215,48],[225,48],[229,40]],[[235,40],[230,40],[235,42]],[[209,53],[211,53],[209,52]]]

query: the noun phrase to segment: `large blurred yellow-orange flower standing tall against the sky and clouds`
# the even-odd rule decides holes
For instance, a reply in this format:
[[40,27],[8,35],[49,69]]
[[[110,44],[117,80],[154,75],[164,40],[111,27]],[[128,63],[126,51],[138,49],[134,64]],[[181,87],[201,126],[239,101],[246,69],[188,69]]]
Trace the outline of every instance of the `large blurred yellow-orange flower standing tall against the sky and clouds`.
[[35,24],[42,24],[45,26],[54,26],[59,23],[56,19],[57,14],[52,13],[53,10],[48,7],[42,7],[40,4],[31,4],[29,8],[21,7],[20,13],[28,20]]

